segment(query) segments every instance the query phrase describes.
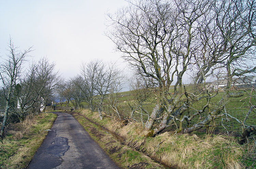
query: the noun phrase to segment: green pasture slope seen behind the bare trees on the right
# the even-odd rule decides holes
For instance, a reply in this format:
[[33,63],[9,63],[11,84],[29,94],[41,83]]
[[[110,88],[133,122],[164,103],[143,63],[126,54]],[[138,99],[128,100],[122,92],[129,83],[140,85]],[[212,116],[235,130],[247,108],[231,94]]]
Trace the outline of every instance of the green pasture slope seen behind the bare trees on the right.
[[[187,86],[187,91],[192,90],[191,87]],[[250,93],[251,91],[249,89],[246,89],[246,91],[248,93]],[[173,92],[173,89],[170,89],[170,93]],[[248,95],[245,91],[243,90],[234,90],[234,91],[230,91],[230,92],[234,92],[234,93],[238,93],[238,92],[243,92],[244,95],[241,97],[229,97],[226,104],[225,104],[225,110],[228,114],[230,114],[232,117],[238,119],[239,121],[244,121],[246,114],[248,113],[248,111],[250,110],[250,105],[255,105],[256,104],[256,100],[251,98],[250,95]],[[193,93],[193,92],[191,92]],[[219,91],[218,93],[212,93],[212,96],[215,95],[215,97],[211,98],[209,107],[207,108],[207,110],[203,113],[200,113],[200,115],[195,116],[194,118],[192,118],[189,121],[189,124],[185,122],[182,123],[182,127],[187,128],[187,127],[191,127],[194,124],[199,123],[199,121],[201,121],[201,117],[205,117],[209,115],[209,111],[213,111],[219,100],[222,99],[224,92],[223,91]],[[252,92],[251,95],[255,95],[255,92]],[[126,117],[131,117],[131,112],[132,110],[135,110],[138,106],[138,100],[136,100],[136,97],[134,96],[134,91],[128,91],[128,92],[120,92],[118,93],[118,95],[120,96],[118,98],[118,105],[117,105],[117,109],[118,112],[121,116],[123,116],[124,118]],[[203,96],[203,95],[201,95]],[[205,96],[205,95],[204,95]],[[96,97],[97,98],[97,97]],[[133,112],[132,114],[132,118],[136,119],[137,121],[142,121],[144,123],[146,123],[148,116],[151,114],[153,108],[156,106],[156,96],[152,93],[151,99],[149,99],[150,103],[148,103],[147,105],[143,105],[143,109],[147,111],[142,111],[142,110],[137,110],[135,112]],[[171,97],[169,97],[171,98]],[[182,96],[182,99],[186,99],[185,95]],[[95,99],[96,100],[96,99]],[[185,100],[181,101],[180,103],[183,104]],[[200,101],[194,102],[193,105],[191,106],[191,109],[189,109],[189,111],[185,111],[182,115],[186,115],[186,116],[193,116],[197,110],[201,110],[205,105],[207,104],[207,99],[201,99]],[[97,103],[95,103],[95,105],[97,105]],[[177,106],[179,107],[179,106]],[[105,104],[103,106],[102,109],[104,112],[108,113],[108,115],[111,116],[117,116],[116,112],[113,111],[107,104]],[[221,113],[223,114],[223,113]],[[224,116],[223,116],[224,117]],[[240,135],[241,132],[241,127],[242,125],[239,124],[237,122],[236,119],[234,118],[227,118],[224,117],[224,120],[221,118],[215,119],[215,124],[223,124],[223,126],[225,126],[226,128],[224,128],[223,126],[219,125],[216,126],[216,131],[218,132],[235,132],[236,135]],[[177,123],[177,126],[180,126],[179,121],[175,121]],[[256,120],[255,120],[255,116],[251,113],[246,120],[245,125],[253,125],[256,126]],[[175,126],[173,127],[175,128]],[[172,128],[171,128],[172,129]],[[205,129],[205,128],[204,128]]]

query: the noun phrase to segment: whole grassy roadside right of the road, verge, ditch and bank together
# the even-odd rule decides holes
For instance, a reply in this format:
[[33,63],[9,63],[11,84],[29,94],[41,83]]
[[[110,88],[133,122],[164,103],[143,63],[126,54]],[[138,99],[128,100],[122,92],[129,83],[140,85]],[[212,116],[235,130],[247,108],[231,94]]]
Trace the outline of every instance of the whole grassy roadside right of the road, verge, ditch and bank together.
[[[91,137],[123,168],[254,168],[253,142],[239,146],[236,138],[226,135],[177,134],[165,132],[156,137],[145,137],[140,123],[124,123],[97,112],[78,110],[69,112]],[[118,142],[104,129],[123,137]],[[136,151],[137,150],[137,151]],[[251,155],[250,155],[251,154]],[[247,160],[250,159],[250,160]],[[156,163],[160,162],[160,164]],[[156,165],[156,166],[155,166]]]

